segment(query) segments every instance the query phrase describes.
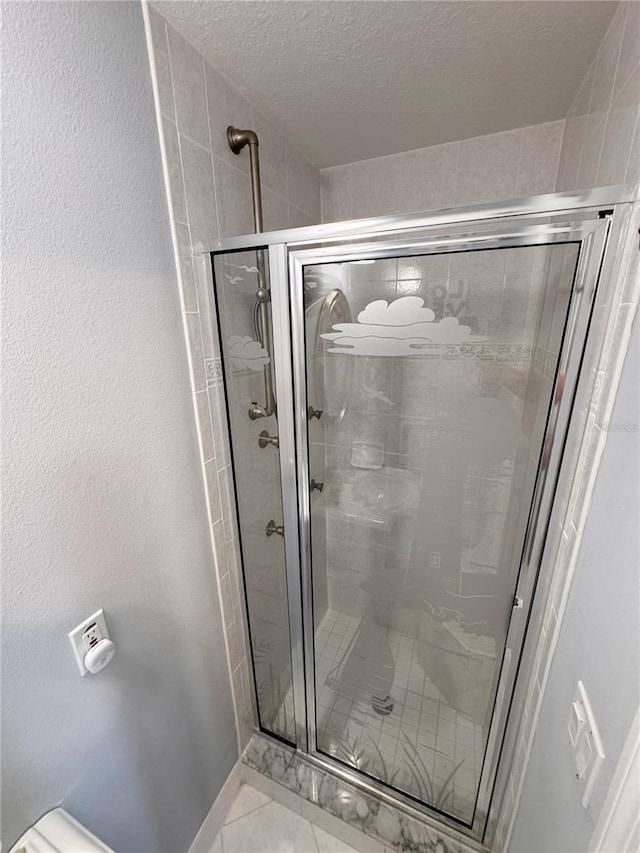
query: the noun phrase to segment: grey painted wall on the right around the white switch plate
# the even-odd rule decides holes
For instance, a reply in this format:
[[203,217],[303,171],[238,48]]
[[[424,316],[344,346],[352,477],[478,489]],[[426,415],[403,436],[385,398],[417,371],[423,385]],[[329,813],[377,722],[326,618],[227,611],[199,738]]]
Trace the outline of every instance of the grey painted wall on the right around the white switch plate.
[[[640,322],[635,321],[511,839],[511,853],[584,853],[640,704]],[[635,424],[636,431],[620,425]],[[581,804],[567,723],[582,679],[606,761]]]

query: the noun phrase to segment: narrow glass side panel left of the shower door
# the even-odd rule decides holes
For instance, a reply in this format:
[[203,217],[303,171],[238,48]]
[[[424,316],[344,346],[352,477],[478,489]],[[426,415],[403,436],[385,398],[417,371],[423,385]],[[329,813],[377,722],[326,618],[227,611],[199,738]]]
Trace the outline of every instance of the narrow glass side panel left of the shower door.
[[249,417],[256,403],[267,405],[265,371],[273,368],[257,309],[258,263],[268,279],[266,253],[216,256],[215,291],[260,727],[294,743],[280,463],[270,440],[278,425],[275,414]]

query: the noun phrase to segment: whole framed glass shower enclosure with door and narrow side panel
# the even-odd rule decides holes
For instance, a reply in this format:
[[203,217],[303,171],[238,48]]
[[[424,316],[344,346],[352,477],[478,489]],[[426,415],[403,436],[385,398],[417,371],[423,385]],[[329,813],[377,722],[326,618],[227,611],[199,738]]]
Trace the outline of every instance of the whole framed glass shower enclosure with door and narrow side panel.
[[211,252],[259,727],[478,838],[628,201],[564,193]]

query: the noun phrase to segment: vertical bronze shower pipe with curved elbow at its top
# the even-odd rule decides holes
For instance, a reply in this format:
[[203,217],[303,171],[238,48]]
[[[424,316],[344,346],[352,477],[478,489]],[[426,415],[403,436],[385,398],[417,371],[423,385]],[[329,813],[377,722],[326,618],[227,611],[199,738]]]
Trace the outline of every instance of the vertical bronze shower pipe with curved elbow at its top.
[[[251,193],[253,196],[253,221],[256,234],[260,234],[262,228],[262,190],[260,188],[260,158],[258,154],[258,134],[253,130],[240,130],[229,125],[227,128],[227,142],[234,154],[239,154],[242,149],[249,146],[249,159],[251,164]],[[253,312],[253,323],[256,338],[260,345],[269,355],[269,361],[263,367],[264,372],[264,405],[252,401],[249,409],[249,417],[252,421],[258,418],[268,418],[276,414],[276,398],[273,392],[273,375],[271,372],[271,323],[269,317],[269,301],[271,295],[267,287],[267,276],[264,262],[264,249],[256,250],[258,289],[256,290],[256,304]],[[263,445],[261,445],[263,446]]]

